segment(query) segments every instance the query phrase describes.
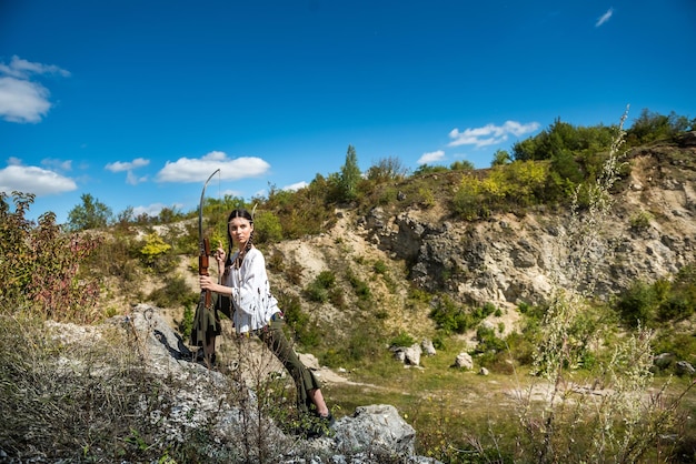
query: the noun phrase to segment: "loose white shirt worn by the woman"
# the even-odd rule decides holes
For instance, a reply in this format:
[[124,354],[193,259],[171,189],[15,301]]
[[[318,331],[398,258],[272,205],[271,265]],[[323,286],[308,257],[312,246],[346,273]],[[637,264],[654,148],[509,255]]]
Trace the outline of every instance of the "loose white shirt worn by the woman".
[[[238,255],[239,252],[232,255],[232,263]],[[241,268],[232,265],[223,280],[222,285],[232,288],[237,333],[262,329],[275,313],[280,312],[278,300],[270,293],[266,259],[259,250],[247,251]]]

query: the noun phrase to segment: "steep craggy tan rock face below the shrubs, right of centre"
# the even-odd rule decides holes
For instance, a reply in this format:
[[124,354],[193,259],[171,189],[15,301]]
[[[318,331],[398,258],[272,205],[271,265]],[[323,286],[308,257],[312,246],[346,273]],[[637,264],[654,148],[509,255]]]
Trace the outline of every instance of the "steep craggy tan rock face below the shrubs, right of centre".
[[[687,144],[687,142],[685,142]],[[655,281],[694,262],[696,252],[696,149],[653,148],[632,153],[632,174],[614,198],[588,250],[598,265],[580,275],[599,297],[636,280]],[[357,223],[368,241],[409,265],[409,280],[430,292],[469,303],[538,303],[550,279],[574,275],[563,263],[568,211],[529,209],[487,220],[461,221],[419,209],[376,206]],[[570,244],[577,245],[577,244]]]

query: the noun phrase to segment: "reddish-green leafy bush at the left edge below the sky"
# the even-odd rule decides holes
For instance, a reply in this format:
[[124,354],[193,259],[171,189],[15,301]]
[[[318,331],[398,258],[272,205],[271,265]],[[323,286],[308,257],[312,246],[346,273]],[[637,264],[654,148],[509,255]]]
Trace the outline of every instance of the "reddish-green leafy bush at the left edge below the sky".
[[80,266],[101,240],[63,233],[52,212],[38,224],[24,218],[33,195],[13,192],[14,211],[0,193],[0,313],[29,311],[57,321],[92,322],[99,282]]

